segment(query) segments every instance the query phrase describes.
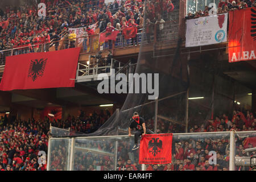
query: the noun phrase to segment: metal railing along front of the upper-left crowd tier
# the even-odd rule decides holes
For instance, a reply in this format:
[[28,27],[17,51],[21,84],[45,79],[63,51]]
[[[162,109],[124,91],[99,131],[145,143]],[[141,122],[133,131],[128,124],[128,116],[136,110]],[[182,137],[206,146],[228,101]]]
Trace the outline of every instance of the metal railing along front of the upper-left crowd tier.
[[[121,32],[118,34],[116,40],[113,43],[112,49],[127,48],[137,45],[152,45],[152,44],[170,44],[174,43],[177,40],[178,34],[178,25],[172,22],[163,23],[163,30],[159,30],[159,24],[154,24],[151,27],[150,32],[143,32],[142,29],[138,30],[136,44],[133,44],[131,39],[126,40]],[[70,40],[60,40],[57,42],[50,42],[44,44],[31,44],[31,46],[10,48],[3,51],[0,51],[0,65],[5,64],[5,59],[7,56],[20,55],[24,53],[33,53],[33,52],[47,52],[61,50],[71,47],[82,47],[81,52],[94,53],[102,50],[109,50],[108,43],[99,43],[99,34],[95,34],[89,37],[77,37],[75,43]],[[143,38],[144,37],[144,38]],[[80,39],[83,39],[82,42]],[[87,39],[89,46],[87,46]],[[142,42],[144,39],[144,42]]]

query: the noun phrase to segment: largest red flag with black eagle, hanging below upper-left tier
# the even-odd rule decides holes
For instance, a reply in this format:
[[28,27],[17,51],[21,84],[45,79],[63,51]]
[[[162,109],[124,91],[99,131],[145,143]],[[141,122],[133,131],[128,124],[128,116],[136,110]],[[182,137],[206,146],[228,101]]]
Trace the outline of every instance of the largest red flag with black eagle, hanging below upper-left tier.
[[74,87],[80,48],[6,57],[0,90]]

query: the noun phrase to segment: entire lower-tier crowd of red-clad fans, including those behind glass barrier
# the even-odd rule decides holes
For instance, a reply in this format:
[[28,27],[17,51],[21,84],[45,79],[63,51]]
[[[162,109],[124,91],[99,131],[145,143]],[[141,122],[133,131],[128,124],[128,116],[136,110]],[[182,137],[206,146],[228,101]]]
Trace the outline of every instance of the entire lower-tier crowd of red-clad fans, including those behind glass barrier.
[[[15,120],[8,122],[8,118],[1,119],[0,127],[0,170],[6,171],[44,171],[47,163],[42,163],[47,156],[39,156],[39,151],[47,154],[48,137],[50,123],[54,127],[67,129],[81,133],[92,133],[96,131],[108,118],[110,112],[101,110],[92,114],[85,115],[83,111],[79,117],[75,118],[68,115],[65,120],[53,120],[45,118],[42,121],[28,119],[28,121]],[[152,129],[151,120],[147,120],[147,127]],[[171,122],[159,121],[158,133],[177,133],[175,125]],[[247,111],[246,117],[241,111],[234,111],[233,117],[226,115],[209,120],[206,125],[197,125],[190,128],[189,132],[209,132],[209,131],[255,131],[256,119],[253,114]],[[182,132],[183,133],[183,132]],[[255,143],[245,142],[249,137],[236,137],[236,155],[248,156],[245,148],[254,147]],[[74,170],[113,170],[114,169],[114,142],[112,140],[93,140],[83,143],[84,140],[77,140],[77,147],[88,147],[90,149],[107,152],[110,155],[94,155],[76,151],[77,158],[73,163]],[[56,141],[55,141],[56,142]],[[67,140],[52,143],[54,147],[51,155],[52,170],[68,170]],[[141,170],[138,165],[139,150],[132,151],[133,139],[124,139],[118,142],[118,164],[117,170]],[[217,164],[210,164],[210,151],[217,152]],[[252,152],[250,155],[255,154]],[[41,161],[41,162],[40,162]],[[229,135],[208,135],[187,138],[174,138],[172,144],[172,163],[166,165],[148,165],[147,170],[169,170],[169,171],[220,171],[229,169]],[[237,170],[241,167],[237,167]]]

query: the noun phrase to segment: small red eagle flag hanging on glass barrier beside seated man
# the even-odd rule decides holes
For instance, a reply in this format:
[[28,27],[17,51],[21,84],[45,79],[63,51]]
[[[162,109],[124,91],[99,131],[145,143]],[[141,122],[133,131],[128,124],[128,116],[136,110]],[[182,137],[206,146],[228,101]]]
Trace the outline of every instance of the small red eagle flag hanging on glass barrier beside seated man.
[[144,135],[139,149],[139,164],[168,164],[172,161],[172,134]]

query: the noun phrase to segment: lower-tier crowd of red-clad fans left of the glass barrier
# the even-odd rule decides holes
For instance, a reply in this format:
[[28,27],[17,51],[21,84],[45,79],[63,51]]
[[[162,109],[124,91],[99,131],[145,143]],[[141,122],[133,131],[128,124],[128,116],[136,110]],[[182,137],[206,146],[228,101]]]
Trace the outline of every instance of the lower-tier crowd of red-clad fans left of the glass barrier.
[[[86,116],[81,112],[80,116],[75,118],[68,116],[66,120],[52,120],[45,118],[43,120],[35,121],[35,119],[28,119],[28,121],[15,120],[8,122],[7,117],[1,118],[0,125],[0,170],[1,171],[45,171],[47,163],[47,155],[40,157],[39,151],[44,151],[47,154],[49,126],[50,123],[54,127],[68,128],[80,131],[82,133],[92,133],[97,130],[106,119],[110,117],[110,112],[102,110],[100,113],[95,111]],[[61,150],[57,151],[59,155],[54,156],[53,166],[56,165],[56,170],[61,169],[58,166],[63,165],[56,162],[64,158],[65,147],[61,145]],[[67,155],[66,155],[67,156]],[[64,168],[62,168],[64,169]]]

